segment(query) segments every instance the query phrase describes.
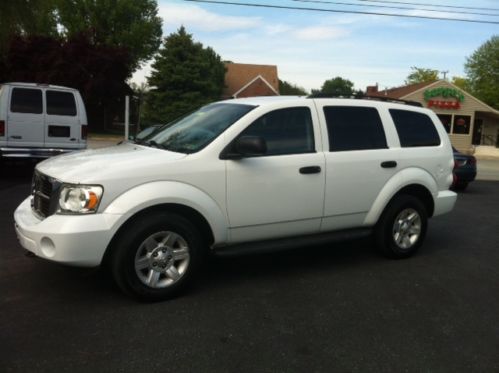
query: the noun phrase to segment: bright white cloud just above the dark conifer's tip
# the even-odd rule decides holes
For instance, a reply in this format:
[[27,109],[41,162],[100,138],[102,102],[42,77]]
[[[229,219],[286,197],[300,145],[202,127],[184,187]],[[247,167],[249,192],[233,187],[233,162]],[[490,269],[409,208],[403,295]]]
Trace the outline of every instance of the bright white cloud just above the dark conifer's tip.
[[228,31],[244,30],[261,25],[260,17],[225,16],[212,13],[196,5],[162,4],[159,16],[169,29],[184,25],[188,30]]

